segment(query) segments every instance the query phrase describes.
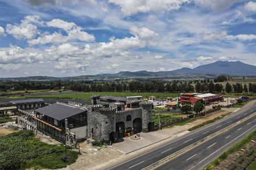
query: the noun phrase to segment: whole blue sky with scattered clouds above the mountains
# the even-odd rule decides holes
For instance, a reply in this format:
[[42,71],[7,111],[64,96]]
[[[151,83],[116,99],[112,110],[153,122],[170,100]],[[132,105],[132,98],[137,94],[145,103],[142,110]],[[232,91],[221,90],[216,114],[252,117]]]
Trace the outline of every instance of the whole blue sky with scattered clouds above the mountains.
[[0,77],[256,66],[256,0],[0,0]]

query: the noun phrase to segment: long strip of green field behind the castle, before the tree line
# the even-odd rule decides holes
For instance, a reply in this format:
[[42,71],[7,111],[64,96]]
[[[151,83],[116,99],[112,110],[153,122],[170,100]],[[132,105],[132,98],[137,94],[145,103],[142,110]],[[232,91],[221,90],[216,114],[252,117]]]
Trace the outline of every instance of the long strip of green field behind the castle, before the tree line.
[[[67,93],[67,94],[65,94]],[[114,97],[127,97],[127,96],[143,96],[148,99],[149,96],[155,96],[156,99],[167,99],[167,97],[178,97],[180,93],[156,93],[156,92],[61,92],[53,95],[37,95],[37,96],[24,96],[24,98],[44,98],[44,99],[90,99],[91,95],[101,96],[114,96]]]

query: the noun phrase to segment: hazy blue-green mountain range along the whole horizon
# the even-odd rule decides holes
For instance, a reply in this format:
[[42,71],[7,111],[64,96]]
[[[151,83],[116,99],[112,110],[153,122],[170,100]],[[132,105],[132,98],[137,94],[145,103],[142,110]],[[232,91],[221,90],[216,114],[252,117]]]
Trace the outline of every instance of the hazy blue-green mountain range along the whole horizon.
[[[171,68],[171,66],[170,66]],[[256,66],[248,65],[241,61],[216,61],[207,65],[201,65],[194,69],[183,67],[182,69],[172,71],[120,71],[115,74],[97,74],[97,75],[81,75],[81,76],[69,76],[69,77],[53,77],[53,76],[28,76],[21,78],[0,78],[0,80],[113,80],[123,78],[184,78],[184,77],[198,77],[200,75],[207,75],[215,77],[216,74],[225,75],[256,75]]]

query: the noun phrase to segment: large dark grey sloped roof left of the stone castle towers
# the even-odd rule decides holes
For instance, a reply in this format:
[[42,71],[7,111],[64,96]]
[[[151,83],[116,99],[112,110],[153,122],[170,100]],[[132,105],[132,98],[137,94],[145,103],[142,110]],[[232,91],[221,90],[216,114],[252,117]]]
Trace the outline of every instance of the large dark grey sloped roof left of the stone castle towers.
[[56,120],[63,120],[65,118],[74,116],[76,114],[85,112],[85,109],[80,109],[64,104],[51,104],[43,108],[35,109],[36,112],[42,113],[46,116],[55,118]]

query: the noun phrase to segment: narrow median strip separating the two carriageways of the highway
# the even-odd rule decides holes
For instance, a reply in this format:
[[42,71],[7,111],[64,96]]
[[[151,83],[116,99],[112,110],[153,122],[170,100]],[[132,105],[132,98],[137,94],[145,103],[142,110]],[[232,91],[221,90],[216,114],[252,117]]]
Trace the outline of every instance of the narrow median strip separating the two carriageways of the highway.
[[249,118],[251,118],[251,117],[253,117],[255,115],[256,115],[256,112],[251,114],[250,116],[247,116],[247,117],[243,118],[240,121],[235,122],[234,124],[231,124],[231,125],[227,126],[226,128],[223,128],[223,129],[221,129],[219,131],[216,131],[215,133],[209,135],[208,137],[205,137],[205,138],[201,139],[200,141],[197,141],[197,142],[195,142],[195,143],[193,143],[193,144],[183,148],[182,150],[175,152],[174,154],[171,154],[171,155],[167,156],[166,158],[163,158],[163,159],[159,160],[158,162],[156,162],[154,164],[149,165],[146,168],[143,168],[142,170],[155,169],[156,167],[159,167],[161,164],[164,164],[164,163],[166,163],[166,162],[176,158],[177,156],[179,156],[181,154],[184,154],[184,152],[187,152],[188,150],[191,150],[192,148],[200,145],[201,143],[203,143],[205,141],[208,141],[210,138],[213,138],[213,137],[217,136],[218,134],[221,134],[224,131],[229,130],[230,128],[233,128],[234,126],[236,126],[238,124],[241,124],[241,122],[246,121],[246,120],[248,120]]

